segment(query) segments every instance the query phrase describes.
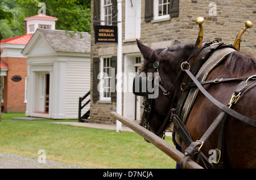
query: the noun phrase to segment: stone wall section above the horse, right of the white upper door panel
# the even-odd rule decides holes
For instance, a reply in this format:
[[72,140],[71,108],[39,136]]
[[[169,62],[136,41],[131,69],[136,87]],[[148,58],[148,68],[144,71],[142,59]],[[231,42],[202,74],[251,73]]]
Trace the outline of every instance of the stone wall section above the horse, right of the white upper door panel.
[[[209,15],[216,3],[216,16]],[[254,27],[247,29],[249,36],[243,36],[241,50],[256,54],[256,1],[189,1],[180,0],[179,16],[159,23],[144,22],[144,1],[142,1],[142,31],[141,41],[148,46],[155,47],[156,42],[196,41],[199,26],[195,19],[199,16],[205,19],[204,40],[218,38],[226,44],[233,44],[240,30],[245,27],[245,22],[250,20]],[[212,9],[213,10],[213,9]],[[212,12],[212,11],[211,11]],[[148,38],[150,37],[150,38]],[[162,44],[162,43],[159,43]]]

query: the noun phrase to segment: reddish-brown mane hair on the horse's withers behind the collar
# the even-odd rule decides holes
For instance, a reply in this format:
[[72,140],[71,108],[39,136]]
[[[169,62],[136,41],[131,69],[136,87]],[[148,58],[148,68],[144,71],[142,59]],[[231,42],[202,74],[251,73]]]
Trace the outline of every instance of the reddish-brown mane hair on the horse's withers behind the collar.
[[226,59],[225,67],[233,76],[241,77],[256,70],[256,59],[250,53],[235,51]]

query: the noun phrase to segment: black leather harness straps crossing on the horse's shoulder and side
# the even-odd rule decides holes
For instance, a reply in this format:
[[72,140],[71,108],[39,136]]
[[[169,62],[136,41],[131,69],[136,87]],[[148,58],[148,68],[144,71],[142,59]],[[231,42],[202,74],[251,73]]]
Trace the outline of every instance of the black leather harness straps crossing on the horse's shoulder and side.
[[[187,129],[185,128],[185,126],[184,127],[181,126],[181,128],[183,128],[183,130],[182,131],[178,130],[178,131],[179,131],[179,134],[181,136],[181,139],[184,140],[184,142],[185,142],[185,144],[187,144],[188,148],[185,149],[185,156],[181,159],[180,166],[181,166],[181,168],[184,168],[185,164],[188,161],[188,159],[191,158],[191,156],[195,155],[196,153],[200,152],[200,147],[209,138],[210,134],[212,134],[212,132],[215,130],[215,128],[218,126],[218,124],[222,121],[220,135],[219,135],[219,138],[218,138],[218,145],[217,145],[217,148],[214,150],[214,152],[217,153],[216,157],[218,159],[217,162],[214,162],[214,165],[213,165],[216,168],[217,167],[216,164],[218,164],[218,162],[220,162],[220,158],[223,156],[223,153],[221,154],[221,152],[222,152],[222,145],[223,145],[223,139],[224,139],[224,127],[225,127],[226,117],[228,115],[232,115],[233,117],[237,118],[238,120],[240,120],[242,122],[245,122],[245,123],[247,123],[247,124],[249,124],[251,126],[256,127],[256,121],[254,121],[251,118],[245,117],[242,114],[239,114],[239,113],[235,112],[233,109],[230,109],[230,108],[232,108],[232,106],[234,104],[236,104],[238,98],[240,98],[241,96],[245,95],[246,92],[248,92],[251,88],[254,88],[256,86],[256,81],[255,81],[255,79],[251,78],[251,77],[253,77],[253,76],[251,76],[251,77],[247,78],[246,80],[244,80],[243,82],[241,82],[240,84],[238,84],[236,91],[234,92],[234,94],[232,95],[232,98],[229,101],[229,104],[228,104],[229,107],[227,107],[228,105],[225,106],[225,105],[221,104],[221,102],[218,102],[207,91],[205,91],[203,86],[201,86],[200,82],[198,82],[198,80],[195,78],[195,76],[193,76],[193,74],[189,70],[185,70],[185,72],[187,72],[188,76],[197,85],[197,88],[199,88],[200,91],[210,101],[213,102],[213,104],[218,106],[218,108],[220,108],[222,110],[222,112],[213,121],[212,125],[210,125],[208,130],[201,137],[201,139],[196,141],[196,142],[191,142],[192,141],[191,137],[189,136],[189,138],[188,138],[188,136],[187,136],[187,134],[189,134],[187,132]],[[256,75],[254,75],[254,76],[256,76]],[[249,82],[247,82],[247,81],[249,81]],[[235,97],[235,99],[233,97]],[[174,120],[176,122],[180,121],[179,118],[177,118],[176,116],[174,116],[174,117],[175,117]],[[191,142],[191,144],[189,144],[189,142]],[[220,166],[222,166],[222,163],[220,163]]]

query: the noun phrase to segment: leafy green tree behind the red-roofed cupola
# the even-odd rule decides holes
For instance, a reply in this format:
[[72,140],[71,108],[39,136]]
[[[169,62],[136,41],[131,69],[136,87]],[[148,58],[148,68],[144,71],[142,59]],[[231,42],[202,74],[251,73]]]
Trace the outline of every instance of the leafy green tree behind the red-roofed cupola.
[[[55,25],[56,29],[90,33],[90,0],[16,1],[23,10],[23,18],[37,15],[40,8],[38,5],[41,2],[46,4],[46,15],[58,18]],[[20,26],[20,28],[23,27]]]

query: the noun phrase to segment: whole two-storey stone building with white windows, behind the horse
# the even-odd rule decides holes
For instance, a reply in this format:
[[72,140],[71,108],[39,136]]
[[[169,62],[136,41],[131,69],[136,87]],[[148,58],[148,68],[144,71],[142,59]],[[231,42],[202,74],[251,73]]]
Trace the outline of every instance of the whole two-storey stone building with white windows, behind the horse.
[[[143,57],[137,48],[136,38],[152,49],[166,48],[175,40],[195,42],[199,27],[195,19],[205,19],[204,40],[217,38],[226,44],[234,40],[250,20],[256,23],[256,1],[194,1],[194,0],[125,0],[122,3],[122,72],[136,72],[143,63]],[[98,76],[100,72],[110,72],[117,64],[117,44],[96,44],[96,25],[117,25],[117,0],[91,1],[91,102],[90,121],[115,123],[110,112],[115,112],[117,98],[110,89],[110,76]],[[120,23],[120,22],[119,22]],[[243,36],[241,50],[256,54],[255,25],[247,29]],[[245,34],[246,35],[246,34]],[[118,60],[119,61],[119,60]],[[108,73],[107,73],[108,74]],[[105,80],[103,87],[99,84]],[[141,119],[142,97],[135,97],[130,87],[132,78],[123,80],[122,115],[131,120]]]

